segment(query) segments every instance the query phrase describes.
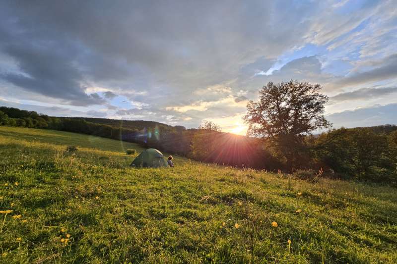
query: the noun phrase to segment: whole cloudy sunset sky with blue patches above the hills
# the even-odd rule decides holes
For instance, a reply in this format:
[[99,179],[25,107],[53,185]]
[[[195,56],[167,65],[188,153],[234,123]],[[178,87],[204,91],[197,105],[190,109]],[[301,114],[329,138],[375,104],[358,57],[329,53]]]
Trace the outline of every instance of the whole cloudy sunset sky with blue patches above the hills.
[[397,124],[396,43],[396,0],[5,0],[0,105],[245,134],[248,100],[293,79],[335,128]]

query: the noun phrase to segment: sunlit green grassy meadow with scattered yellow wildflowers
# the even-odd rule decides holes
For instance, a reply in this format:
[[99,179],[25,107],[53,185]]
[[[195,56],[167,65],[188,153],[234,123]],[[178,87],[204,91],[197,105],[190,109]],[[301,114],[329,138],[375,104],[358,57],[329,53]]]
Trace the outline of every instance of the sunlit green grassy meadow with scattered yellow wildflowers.
[[396,188],[185,158],[133,169],[130,148],[0,127],[0,262],[397,263]]

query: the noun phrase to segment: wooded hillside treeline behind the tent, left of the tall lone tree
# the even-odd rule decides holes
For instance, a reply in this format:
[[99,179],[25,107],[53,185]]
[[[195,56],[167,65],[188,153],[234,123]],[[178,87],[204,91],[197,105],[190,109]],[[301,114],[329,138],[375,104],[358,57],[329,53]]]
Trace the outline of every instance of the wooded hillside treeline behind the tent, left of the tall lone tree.
[[[0,107],[1,125],[54,129],[140,144],[195,160],[223,165],[277,170],[281,163],[268,152],[261,140],[208,129],[185,129],[183,126],[159,125],[139,127],[142,122],[104,121],[103,118],[50,117],[35,111]],[[87,122],[107,122],[114,126]],[[19,121],[18,121],[19,120]],[[24,120],[20,121],[20,120]],[[129,128],[124,125],[128,124]],[[138,124],[141,129],[133,128]]]

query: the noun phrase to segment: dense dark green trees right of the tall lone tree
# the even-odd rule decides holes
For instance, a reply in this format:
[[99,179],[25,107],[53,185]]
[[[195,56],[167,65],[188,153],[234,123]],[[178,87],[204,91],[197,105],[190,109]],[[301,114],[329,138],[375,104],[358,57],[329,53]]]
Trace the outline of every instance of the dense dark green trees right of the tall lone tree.
[[333,129],[310,138],[307,148],[339,177],[397,183],[397,126]]

